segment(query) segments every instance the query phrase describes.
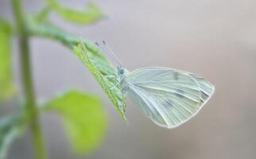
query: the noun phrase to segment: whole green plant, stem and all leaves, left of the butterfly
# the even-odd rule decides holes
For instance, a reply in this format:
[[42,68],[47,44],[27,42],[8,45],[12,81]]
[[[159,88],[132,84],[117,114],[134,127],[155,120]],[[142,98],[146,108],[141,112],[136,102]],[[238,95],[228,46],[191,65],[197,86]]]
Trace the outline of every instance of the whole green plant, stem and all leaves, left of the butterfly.
[[[95,4],[88,3],[86,10],[71,10],[62,6],[57,0],[45,0],[47,6],[41,10],[39,14],[33,18],[26,18],[23,14],[21,1],[13,0],[14,17],[18,30],[17,36],[21,37],[20,49],[21,55],[29,56],[29,38],[30,37],[46,37],[54,41],[60,41],[64,46],[74,52],[80,58],[83,64],[89,69],[91,74],[95,76],[95,80],[103,87],[107,96],[114,103],[122,118],[125,118],[125,98],[122,91],[115,87],[117,82],[109,80],[105,76],[117,76],[116,68],[101,52],[94,43],[87,39],[73,36],[66,33],[56,25],[52,25],[48,15],[55,11],[67,21],[78,24],[91,24],[103,17],[101,10]],[[29,17],[32,17],[29,15]],[[11,25],[0,20],[0,102],[2,99],[8,99],[14,95],[14,83],[11,70]],[[29,62],[21,58],[20,62],[26,68],[21,69],[21,75],[30,78]],[[24,65],[25,64],[25,65]],[[25,81],[27,82],[27,81]],[[33,94],[33,83],[23,83],[26,91]],[[3,118],[0,120],[0,159],[6,157],[6,152],[10,143],[23,134],[26,124],[30,124],[34,146],[37,151],[38,158],[46,158],[43,137],[41,135],[39,119],[39,110],[37,103],[28,104],[28,101],[36,101],[34,95],[25,93],[25,114],[15,114],[11,118]],[[37,102],[37,101],[36,101]],[[45,110],[53,111],[64,119],[64,125],[68,130],[72,145],[77,153],[87,153],[95,149],[102,141],[107,130],[107,116],[103,111],[102,103],[93,95],[83,94],[80,91],[69,91],[64,95],[52,99],[44,105]],[[31,111],[35,111],[35,115],[31,115]],[[24,118],[25,117],[25,118]],[[36,122],[35,122],[36,121]]]

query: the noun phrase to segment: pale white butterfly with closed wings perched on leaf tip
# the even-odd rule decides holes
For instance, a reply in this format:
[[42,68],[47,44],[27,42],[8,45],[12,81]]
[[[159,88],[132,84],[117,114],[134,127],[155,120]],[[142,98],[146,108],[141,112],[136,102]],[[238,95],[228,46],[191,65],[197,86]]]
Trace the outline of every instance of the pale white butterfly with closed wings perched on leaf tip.
[[178,69],[147,67],[128,72],[105,41],[103,45],[118,61],[118,76],[108,76],[117,80],[111,89],[119,87],[158,126],[174,128],[187,122],[215,91],[204,78]]

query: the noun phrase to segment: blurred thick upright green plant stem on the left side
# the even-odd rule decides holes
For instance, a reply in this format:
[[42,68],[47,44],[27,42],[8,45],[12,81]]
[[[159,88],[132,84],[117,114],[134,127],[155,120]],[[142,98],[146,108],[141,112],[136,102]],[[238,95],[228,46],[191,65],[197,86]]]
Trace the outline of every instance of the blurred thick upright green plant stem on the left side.
[[19,29],[19,47],[21,48],[21,73],[22,82],[25,89],[25,107],[29,112],[29,122],[33,135],[33,144],[36,149],[38,159],[46,159],[47,153],[40,125],[40,114],[37,110],[36,97],[33,88],[33,79],[30,67],[29,56],[29,33],[22,10],[21,0],[12,1],[14,16]]

